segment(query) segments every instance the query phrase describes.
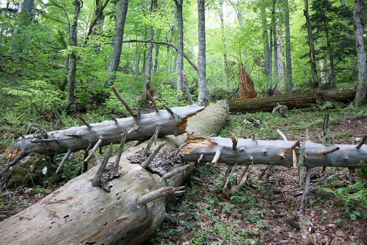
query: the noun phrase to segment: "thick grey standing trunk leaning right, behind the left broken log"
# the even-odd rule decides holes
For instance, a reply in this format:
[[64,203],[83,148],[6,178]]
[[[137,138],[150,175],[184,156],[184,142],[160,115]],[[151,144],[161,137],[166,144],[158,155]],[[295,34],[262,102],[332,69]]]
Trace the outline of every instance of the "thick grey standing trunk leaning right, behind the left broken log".
[[120,0],[119,17],[116,21],[115,43],[113,53],[110,55],[110,67],[108,68],[109,78],[105,87],[109,87],[115,82],[116,72],[119,68],[128,4],[129,0]]

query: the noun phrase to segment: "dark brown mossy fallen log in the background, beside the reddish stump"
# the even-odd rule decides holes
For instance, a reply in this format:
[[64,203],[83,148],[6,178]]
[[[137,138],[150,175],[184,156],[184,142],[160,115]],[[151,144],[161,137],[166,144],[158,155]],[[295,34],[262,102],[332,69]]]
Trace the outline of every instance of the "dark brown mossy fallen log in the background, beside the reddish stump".
[[[350,87],[343,89],[323,90],[321,92],[329,99],[348,103],[355,98],[356,91],[356,87]],[[317,104],[315,94],[313,92],[229,101],[228,104],[230,112],[246,113],[255,111],[272,111],[274,107],[276,107],[277,102],[281,105],[286,105],[288,109],[308,108],[312,104]]]

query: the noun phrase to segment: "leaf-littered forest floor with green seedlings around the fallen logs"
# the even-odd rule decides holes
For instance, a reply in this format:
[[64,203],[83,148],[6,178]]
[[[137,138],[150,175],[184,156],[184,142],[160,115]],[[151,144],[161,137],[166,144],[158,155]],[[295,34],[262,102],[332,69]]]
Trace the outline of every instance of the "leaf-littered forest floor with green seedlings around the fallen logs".
[[[220,136],[239,137],[241,132],[246,137],[257,133],[261,140],[279,140],[276,129],[280,129],[288,140],[304,140],[308,127],[310,139],[321,143],[318,135],[325,112],[324,108],[313,107],[292,110],[284,118],[266,112],[230,114]],[[367,134],[366,115],[366,104],[331,110],[329,125],[333,142],[352,144],[353,139]],[[244,126],[242,121],[248,117],[260,119],[261,126]],[[5,127],[1,130],[2,138],[9,135]],[[81,154],[71,157],[74,160],[65,169],[66,179],[75,176],[81,157]],[[5,155],[0,158],[4,164]],[[302,192],[297,170],[273,167],[258,180],[265,168],[265,165],[250,167],[248,184],[239,193],[227,195],[222,193],[225,165],[198,164],[193,175],[202,183],[190,181],[186,193],[169,203],[167,213],[171,217],[164,221],[149,244],[367,244],[367,201],[363,196],[366,189],[358,182],[349,184],[348,169],[328,167],[325,172],[321,172],[322,168],[312,169],[305,210],[316,228],[316,233],[311,234],[297,216]],[[243,171],[237,168],[230,183],[235,184]],[[357,179],[355,174],[353,178]],[[0,182],[0,220],[32,205],[63,183],[11,190],[3,188]]]

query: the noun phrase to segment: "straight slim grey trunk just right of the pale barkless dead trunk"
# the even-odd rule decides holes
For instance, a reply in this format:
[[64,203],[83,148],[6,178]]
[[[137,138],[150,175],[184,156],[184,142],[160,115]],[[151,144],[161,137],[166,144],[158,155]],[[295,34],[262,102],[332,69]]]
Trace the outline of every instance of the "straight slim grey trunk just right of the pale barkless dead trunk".
[[287,94],[292,93],[292,59],[291,59],[291,33],[289,26],[288,0],[284,1],[285,29],[286,29],[286,64],[287,64]]

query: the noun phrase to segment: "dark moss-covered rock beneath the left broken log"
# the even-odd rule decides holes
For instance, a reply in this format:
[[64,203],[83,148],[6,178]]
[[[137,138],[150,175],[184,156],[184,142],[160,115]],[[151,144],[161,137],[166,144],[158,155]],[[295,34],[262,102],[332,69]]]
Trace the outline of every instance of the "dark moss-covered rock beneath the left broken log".
[[61,181],[61,175],[55,174],[56,169],[57,166],[49,156],[31,153],[21,163],[8,170],[5,179],[8,187],[14,189],[20,186],[47,186]]

